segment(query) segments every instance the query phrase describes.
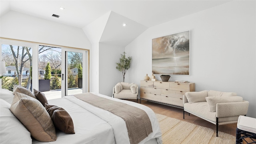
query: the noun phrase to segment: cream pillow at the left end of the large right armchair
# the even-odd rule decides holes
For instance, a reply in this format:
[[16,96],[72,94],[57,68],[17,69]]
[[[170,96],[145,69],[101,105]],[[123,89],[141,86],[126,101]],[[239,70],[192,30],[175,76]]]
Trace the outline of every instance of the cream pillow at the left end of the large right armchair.
[[206,102],[205,97],[207,96],[207,90],[201,92],[186,92],[185,95],[190,104],[194,102]]

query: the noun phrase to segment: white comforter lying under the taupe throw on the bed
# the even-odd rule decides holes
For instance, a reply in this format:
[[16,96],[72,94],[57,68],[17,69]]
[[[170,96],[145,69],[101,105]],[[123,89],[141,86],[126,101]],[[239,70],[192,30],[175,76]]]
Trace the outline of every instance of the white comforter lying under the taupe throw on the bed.
[[[92,94],[111,100],[124,102],[144,110],[151,121],[153,132],[140,144],[156,142],[162,144],[162,134],[154,112],[142,104],[120,100],[102,94]],[[57,132],[57,140],[50,144],[130,144],[124,120],[106,110],[94,107],[74,96],[65,96],[48,101],[49,104],[64,108],[72,117],[76,134]],[[41,144],[33,140],[33,144]]]

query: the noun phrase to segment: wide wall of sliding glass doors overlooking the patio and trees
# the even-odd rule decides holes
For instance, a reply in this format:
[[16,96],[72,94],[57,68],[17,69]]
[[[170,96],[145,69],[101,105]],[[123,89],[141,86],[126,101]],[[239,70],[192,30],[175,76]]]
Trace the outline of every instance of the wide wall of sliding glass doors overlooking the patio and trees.
[[[8,39],[0,43],[0,61],[6,64],[0,88],[19,84],[42,91],[47,99],[89,92],[89,50]],[[41,84],[45,79],[50,88]]]

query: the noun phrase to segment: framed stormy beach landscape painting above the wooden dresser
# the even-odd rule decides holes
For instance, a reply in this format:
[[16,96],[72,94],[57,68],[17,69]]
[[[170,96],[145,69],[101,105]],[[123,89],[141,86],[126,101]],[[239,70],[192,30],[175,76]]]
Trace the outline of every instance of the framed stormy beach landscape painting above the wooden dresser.
[[190,30],[152,39],[152,72],[190,75]]

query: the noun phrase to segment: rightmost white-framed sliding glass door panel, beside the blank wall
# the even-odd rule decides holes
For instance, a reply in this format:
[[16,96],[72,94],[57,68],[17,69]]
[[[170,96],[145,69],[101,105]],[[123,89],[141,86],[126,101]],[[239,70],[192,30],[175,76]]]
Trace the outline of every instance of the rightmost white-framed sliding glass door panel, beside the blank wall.
[[88,52],[62,48],[62,97],[88,92]]

